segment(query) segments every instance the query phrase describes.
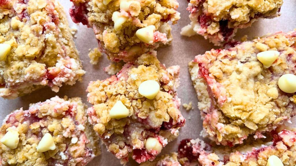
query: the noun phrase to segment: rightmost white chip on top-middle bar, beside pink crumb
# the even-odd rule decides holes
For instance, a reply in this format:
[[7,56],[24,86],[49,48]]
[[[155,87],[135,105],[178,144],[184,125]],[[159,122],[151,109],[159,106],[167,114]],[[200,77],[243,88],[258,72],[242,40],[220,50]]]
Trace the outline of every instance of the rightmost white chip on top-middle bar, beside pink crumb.
[[138,29],[136,36],[144,43],[153,44],[155,29],[156,28],[154,25],[149,25],[148,27]]

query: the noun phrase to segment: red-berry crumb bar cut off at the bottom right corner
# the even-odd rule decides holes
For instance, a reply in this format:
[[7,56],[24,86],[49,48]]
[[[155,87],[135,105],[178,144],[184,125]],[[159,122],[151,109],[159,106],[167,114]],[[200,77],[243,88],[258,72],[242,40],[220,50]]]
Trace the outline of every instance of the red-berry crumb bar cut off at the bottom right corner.
[[[250,145],[245,145],[247,149],[234,148],[230,149],[230,153],[224,150],[221,156],[218,156],[219,152],[213,152],[215,148],[211,148],[200,139],[186,139],[179,145],[178,158],[183,166],[266,166],[268,157],[275,155],[279,157],[284,166],[294,166],[296,164],[296,133],[283,130],[274,134],[273,137],[271,142],[257,147],[250,148]],[[256,142],[253,143],[256,144]]]

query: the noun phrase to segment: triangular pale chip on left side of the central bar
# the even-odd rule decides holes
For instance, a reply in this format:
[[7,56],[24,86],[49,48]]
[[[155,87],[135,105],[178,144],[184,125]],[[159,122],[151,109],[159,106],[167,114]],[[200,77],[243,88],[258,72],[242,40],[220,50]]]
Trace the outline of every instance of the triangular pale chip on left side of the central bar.
[[111,108],[109,115],[111,118],[115,119],[126,118],[129,115],[129,110],[120,100],[118,100]]

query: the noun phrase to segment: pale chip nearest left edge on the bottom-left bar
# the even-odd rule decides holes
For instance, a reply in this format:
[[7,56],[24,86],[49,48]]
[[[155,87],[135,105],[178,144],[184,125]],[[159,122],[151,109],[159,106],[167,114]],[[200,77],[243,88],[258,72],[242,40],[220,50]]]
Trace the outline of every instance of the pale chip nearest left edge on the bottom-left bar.
[[10,149],[15,149],[20,141],[19,135],[20,134],[15,130],[7,131],[7,133],[1,138],[1,143]]

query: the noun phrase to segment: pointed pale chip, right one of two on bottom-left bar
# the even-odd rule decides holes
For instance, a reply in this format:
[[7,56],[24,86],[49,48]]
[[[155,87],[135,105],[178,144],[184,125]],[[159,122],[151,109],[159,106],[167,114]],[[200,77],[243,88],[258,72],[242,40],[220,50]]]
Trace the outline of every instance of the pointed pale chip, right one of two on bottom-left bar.
[[37,146],[38,152],[46,152],[48,150],[54,150],[56,148],[54,144],[54,139],[52,138],[52,135],[49,133],[44,134],[41,141],[39,142]]

